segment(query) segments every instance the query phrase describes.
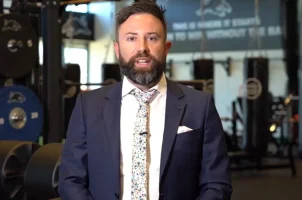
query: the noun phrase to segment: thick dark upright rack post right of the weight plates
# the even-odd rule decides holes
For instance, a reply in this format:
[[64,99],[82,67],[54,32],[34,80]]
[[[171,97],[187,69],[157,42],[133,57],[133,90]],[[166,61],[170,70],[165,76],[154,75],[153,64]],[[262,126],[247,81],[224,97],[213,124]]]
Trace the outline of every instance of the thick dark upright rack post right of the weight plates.
[[63,97],[60,92],[62,38],[59,24],[60,0],[43,0],[43,103],[45,108],[44,144],[63,138]]

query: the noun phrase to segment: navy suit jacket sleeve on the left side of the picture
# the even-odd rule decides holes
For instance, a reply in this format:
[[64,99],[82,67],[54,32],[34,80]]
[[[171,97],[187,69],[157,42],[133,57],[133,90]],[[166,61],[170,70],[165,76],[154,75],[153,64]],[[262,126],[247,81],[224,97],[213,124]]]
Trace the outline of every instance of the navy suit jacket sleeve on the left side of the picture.
[[58,191],[62,200],[91,200],[87,188],[86,129],[83,120],[82,95],[79,94],[69,121],[62,152]]

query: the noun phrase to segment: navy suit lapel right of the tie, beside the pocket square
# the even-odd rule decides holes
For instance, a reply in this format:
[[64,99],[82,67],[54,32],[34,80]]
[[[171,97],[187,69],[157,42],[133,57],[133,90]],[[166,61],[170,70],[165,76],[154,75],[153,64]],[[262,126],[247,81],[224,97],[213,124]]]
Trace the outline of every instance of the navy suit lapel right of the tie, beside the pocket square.
[[186,104],[184,102],[184,98],[182,98],[183,96],[184,94],[180,87],[175,82],[167,79],[167,103],[161,152],[160,180],[162,179],[164,171],[167,167],[167,162],[174,144],[177,129],[181,123],[181,119],[185,111]]

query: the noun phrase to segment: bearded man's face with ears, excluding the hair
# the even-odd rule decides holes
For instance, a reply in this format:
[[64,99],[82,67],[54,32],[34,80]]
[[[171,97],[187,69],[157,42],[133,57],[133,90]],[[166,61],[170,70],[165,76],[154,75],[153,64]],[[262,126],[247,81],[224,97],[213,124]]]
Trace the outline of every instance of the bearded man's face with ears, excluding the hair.
[[130,16],[119,28],[114,44],[122,74],[139,85],[150,85],[161,78],[170,42],[165,41],[165,29],[151,14]]

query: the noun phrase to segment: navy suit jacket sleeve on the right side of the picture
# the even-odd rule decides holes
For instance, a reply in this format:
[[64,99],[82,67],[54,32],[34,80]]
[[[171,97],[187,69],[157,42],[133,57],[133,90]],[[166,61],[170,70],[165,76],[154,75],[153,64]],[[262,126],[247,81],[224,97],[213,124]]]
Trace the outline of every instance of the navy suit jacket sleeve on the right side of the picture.
[[220,117],[212,95],[208,96],[204,124],[200,196],[197,200],[229,200],[232,186],[229,158]]

